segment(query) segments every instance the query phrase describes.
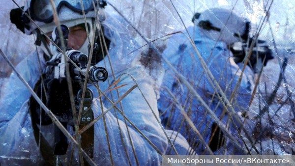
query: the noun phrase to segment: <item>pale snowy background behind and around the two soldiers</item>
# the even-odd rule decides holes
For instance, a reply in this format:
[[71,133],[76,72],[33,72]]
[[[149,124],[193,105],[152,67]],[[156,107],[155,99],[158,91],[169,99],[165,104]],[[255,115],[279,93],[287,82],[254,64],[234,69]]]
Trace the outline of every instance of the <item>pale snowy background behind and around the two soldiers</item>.
[[[182,20],[179,19],[176,10],[169,0],[109,0],[118,10],[127,17],[131,24],[139,29],[143,35],[149,40],[163,37],[166,34],[172,33],[175,30],[181,30],[185,27],[192,26],[191,18],[195,12],[202,12],[211,7],[223,7],[227,9],[234,8],[234,12],[244,17],[249,18],[252,23],[252,29],[256,29],[261,23],[262,18],[266,16],[264,6],[269,5],[270,0],[172,0],[179,12]],[[16,0],[21,6],[24,0]],[[236,5],[235,5],[236,3]],[[0,49],[12,61],[14,65],[18,64],[26,55],[34,51],[33,36],[25,35],[19,31],[15,25],[12,25],[9,20],[9,12],[17,6],[11,0],[0,1]],[[278,57],[283,59],[288,58],[288,66],[285,70],[287,83],[282,83],[279,86],[275,99],[269,106],[269,115],[264,113],[260,116],[259,106],[262,108],[265,103],[258,101],[258,98],[266,97],[271,94],[275,88],[280,75],[280,67],[278,58],[270,60],[265,66],[260,78],[260,92],[256,96],[256,101],[253,102],[251,108],[247,112],[247,117],[244,118],[245,126],[250,129],[255,136],[261,132],[256,128],[260,119],[260,126],[266,129],[266,135],[261,139],[263,154],[294,154],[295,151],[295,115],[293,115],[289,101],[284,104],[287,99],[286,88],[288,86],[294,98],[295,91],[295,1],[294,0],[274,0],[270,8],[269,23],[266,22],[261,32],[260,38],[266,40],[270,47],[273,48],[272,36],[269,25],[274,32],[274,40],[278,46]],[[117,13],[110,5],[105,9],[109,13]],[[184,25],[182,24],[182,21]],[[131,28],[131,27],[130,27]],[[146,44],[141,37],[134,31],[133,34],[141,44]],[[157,40],[154,42],[158,47],[165,47],[167,40]],[[293,53],[292,53],[293,51]],[[275,55],[275,52],[273,51]],[[11,72],[11,68],[7,65],[2,57],[0,57],[0,88],[3,88],[7,77]],[[0,90],[1,92],[1,90]],[[1,97],[1,94],[0,94]],[[272,123],[269,121],[269,116],[272,118]],[[26,129],[22,132],[26,133]],[[279,135],[278,138],[268,136]],[[28,136],[29,137],[29,136]],[[254,137],[255,138],[255,137]],[[258,136],[257,136],[258,138]],[[3,144],[4,145],[4,144]],[[256,146],[260,149],[260,143]],[[275,151],[273,152],[273,149]],[[0,156],[0,158],[6,158]]]

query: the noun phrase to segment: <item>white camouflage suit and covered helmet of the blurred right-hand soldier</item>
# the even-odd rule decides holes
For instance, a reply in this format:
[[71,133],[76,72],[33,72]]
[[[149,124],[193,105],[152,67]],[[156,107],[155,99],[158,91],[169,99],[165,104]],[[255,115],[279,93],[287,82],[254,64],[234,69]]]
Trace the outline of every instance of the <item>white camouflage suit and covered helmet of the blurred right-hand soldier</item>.
[[[229,17],[230,11],[228,10],[216,8],[211,10],[212,11],[208,9],[202,13],[199,20],[209,19],[211,23],[215,23],[215,27],[218,27],[222,25],[222,23],[225,23],[222,21],[227,20]],[[212,15],[212,13],[214,14]],[[214,79],[217,81],[222,91],[225,92],[228,99],[230,99],[238,79],[241,77],[241,83],[236,92],[236,97],[234,97],[235,100],[232,102],[232,106],[236,112],[245,111],[251,99],[253,73],[251,69],[249,70],[249,68],[246,67],[247,70],[241,76],[242,67],[236,65],[232,57],[233,55],[227,47],[227,44],[238,41],[235,36],[233,36],[232,32],[235,26],[240,26],[239,28],[242,30],[244,22],[233,13],[229,19],[228,25],[217,42],[220,32],[205,30],[198,27],[199,20],[195,20],[194,27],[187,28],[196,49],[206,62],[208,69],[211,71]],[[231,23],[233,20],[237,21]],[[223,26],[220,27],[222,28]],[[207,106],[215,112],[216,116],[224,124],[227,124],[229,120],[228,113],[223,115],[224,107],[222,103],[219,102],[220,100],[215,93],[216,86],[208,81],[208,76],[204,72],[201,61],[188,39],[188,33],[186,30],[183,30],[182,33],[173,34],[169,39],[163,56],[185,77],[188,83],[192,85],[205,101]],[[167,64],[164,64],[164,68],[166,72],[161,85],[160,99],[158,100],[158,109],[160,114],[162,114],[162,124],[166,126],[167,129],[179,130],[179,133],[187,138],[190,146],[199,155],[203,154],[203,152],[209,154],[208,151],[205,150],[206,147],[201,143],[200,137],[193,131],[189,123],[184,120],[177,102],[179,102],[180,107],[187,113],[207,144],[211,138],[212,124],[214,123],[211,115]],[[167,89],[173,93],[176,100],[169,94]],[[233,130],[233,135],[237,133],[234,132],[236,130],[232,126],[230,130]],[[216,143],[217,141],[218,140],[213,139],[211,143]],[[212,151],[215,151],[215,154],[223,153],[222,150],[218,151],[217,149]]]

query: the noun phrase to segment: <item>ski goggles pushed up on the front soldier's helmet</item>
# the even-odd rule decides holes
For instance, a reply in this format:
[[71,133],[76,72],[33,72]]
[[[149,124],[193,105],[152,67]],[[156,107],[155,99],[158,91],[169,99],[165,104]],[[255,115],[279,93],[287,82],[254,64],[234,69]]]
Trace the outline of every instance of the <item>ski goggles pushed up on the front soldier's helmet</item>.
[[[94,10],[94,5],[97,4],[97,0],[82,0],[82,2],[86,14]],[[54,3],[58,13],[62,6],[66,6],[74,12],[83,14],[81,0],[54,0]],[[51,23],[53,21],[53,10],[50,0],[31,0],[29,14],[33,20],[46,24]]]

